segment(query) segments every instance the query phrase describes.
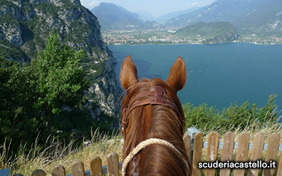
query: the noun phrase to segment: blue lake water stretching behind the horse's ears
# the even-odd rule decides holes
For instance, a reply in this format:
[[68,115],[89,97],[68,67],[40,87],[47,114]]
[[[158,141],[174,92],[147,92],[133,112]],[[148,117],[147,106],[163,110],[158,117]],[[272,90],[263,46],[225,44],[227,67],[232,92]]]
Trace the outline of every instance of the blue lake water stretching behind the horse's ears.
[[268,95],[277,94],[282,109],[282,45],[263,46],[251,43],[219,45],[120,45],[108,46],[117,64],[127,55],[137,66],[138,76],[167,79],[177,56],[187,67],[187,82],[177,95],[182,104],[207,103],[221,110],[231,103],[246,100],[258,107],[266,105]]

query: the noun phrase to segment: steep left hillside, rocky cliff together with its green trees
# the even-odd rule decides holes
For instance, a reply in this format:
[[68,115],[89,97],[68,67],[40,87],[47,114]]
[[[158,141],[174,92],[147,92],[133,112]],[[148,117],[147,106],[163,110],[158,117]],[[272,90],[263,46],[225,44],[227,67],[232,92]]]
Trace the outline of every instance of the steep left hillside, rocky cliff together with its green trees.
[[37,136],[44,145],[49,135],[81,141],[90,128],[113,130],[120,88],[97,18],[79,0],[0,6],[0,143],[13,139],[15,152]]

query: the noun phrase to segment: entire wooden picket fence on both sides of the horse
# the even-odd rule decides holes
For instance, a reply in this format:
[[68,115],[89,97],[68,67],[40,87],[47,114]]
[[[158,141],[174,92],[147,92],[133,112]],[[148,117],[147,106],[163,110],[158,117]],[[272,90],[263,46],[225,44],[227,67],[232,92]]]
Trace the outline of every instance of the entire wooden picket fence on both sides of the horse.
[[[193,131],[193,130],[192,130]],[[276,161],[276,169],[267,168],[262,171],[264,176],[282,176],[282,144],[280,143],[281,136],[278,133],[273,133],[269,136],[267,142],[264,143],[265,138],[263,133],[254,135],[253,143],[249,143],[249,133],[241,133],[239,135],[238,143],[234,143],[234,133],[228,132],[224,135],[222,141],[219,142],[219,133],[211,132],[207,135],[207,141],[203,141],[204,135],[202,132],[192,132],[184,138],[188,157],[192,160],[193,172],[195,176],[198,175],[220,175],[220,176],[240,176],[250,175],[256,176],[259,169],[215,169],[200,170],[198,163],[201,161],[214,162],[219,161],[256,161],[264,159],[265,162],[270,160]],[[263,154],[263,150],[264,152]],[[280,152],[280,154],[279,154]],[[203,155],[204,153],[204,155]],[[278,158],[281,155],[281,158]],[[205,156],[205,157],[204,157]],[[265,157],[263,157],[265,156]],[[278,158],[278,159],[277,159]],[[110,176],[119,175],[122,163],[118,162],[118,155],[112,153],[108,155],[108,166],[102,166],[100,157],[94,157],[90,161],[90,170],[84,170],[83,162],[73,162],[72,173],[68,176],[102,176],[108,173]],[[216,174],[217,172],[217,174]],[[31,176],[45,176],[43,170],[35,170]],[[65,168],[58,165],[53,168],[52,176],[66,176]]]

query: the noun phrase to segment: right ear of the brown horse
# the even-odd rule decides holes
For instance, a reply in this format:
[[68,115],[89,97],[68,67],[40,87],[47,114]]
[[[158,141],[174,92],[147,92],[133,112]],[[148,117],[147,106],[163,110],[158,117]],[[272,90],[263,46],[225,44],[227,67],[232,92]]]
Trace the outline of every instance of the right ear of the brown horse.
[[178,57],[172,68],[170,68],[169,76],[166,83],[174,88],[177,92],[181,90],[186,81],[186,66],[182,58]]

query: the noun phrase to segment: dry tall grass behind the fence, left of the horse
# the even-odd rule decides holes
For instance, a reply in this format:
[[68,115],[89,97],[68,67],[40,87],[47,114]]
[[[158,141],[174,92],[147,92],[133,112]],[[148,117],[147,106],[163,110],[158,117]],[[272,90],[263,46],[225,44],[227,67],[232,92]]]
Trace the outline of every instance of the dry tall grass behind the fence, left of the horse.
[[[120,135],[103,135],[96,130],[91,134],[91,144],[87,147],[74,146],[71,142],[68,145],[59,143],[58,140],[52,139],[51,147],[41,150],[35,144],[28,153],[19,152],[16,159],[12,160],[7,157],[9,148],[4,148],[1,154],[1,169],[11,168],[11,174],[21,173],[31,175],[33,170],[42,169],[46,175],[51,175],[51,170],[56,165],[63,165],[66,174],[71,173],[71,165],[75,160],[83,162],[85,170],[90,169],[90,160],[95,157],[101,157],[103,165],[106,165],[108,154],[116,152],[122,156],[122,138]],[[22,147],[22,151],[24,146]],[[122,158],[120,158],[122,160]]]

